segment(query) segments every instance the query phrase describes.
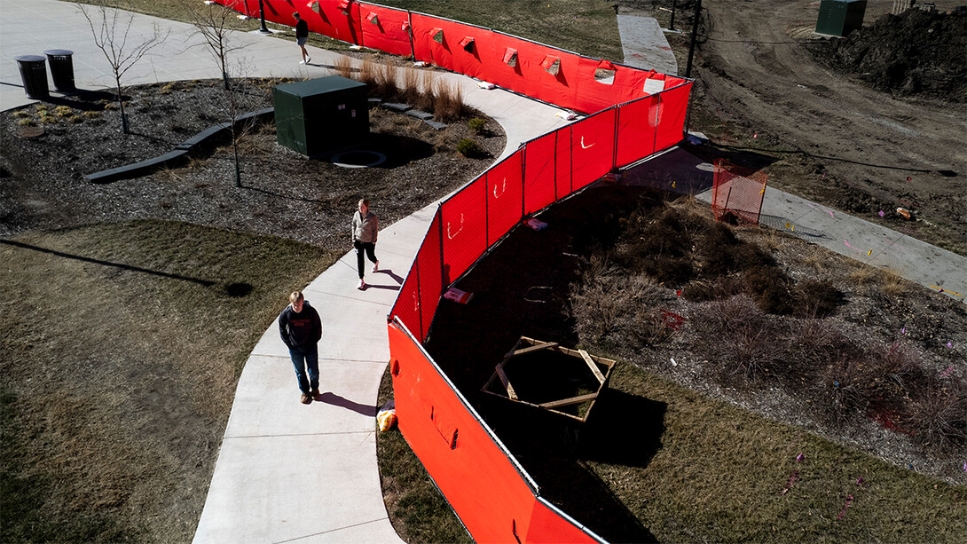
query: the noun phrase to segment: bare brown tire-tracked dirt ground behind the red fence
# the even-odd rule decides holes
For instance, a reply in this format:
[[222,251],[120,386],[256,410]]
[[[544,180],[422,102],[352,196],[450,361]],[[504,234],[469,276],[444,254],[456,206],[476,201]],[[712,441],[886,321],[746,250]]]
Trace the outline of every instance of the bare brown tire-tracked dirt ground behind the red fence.
[[[667,25],[668,14],[658,7],[670,1],[619,4],[622,13],[654,15]],[[676,28],[690,31],[694,3],[677,4]],[[936,2],[940,11],[959,4]],[[872,25],[892,7],[868,2],[864,23]],[[827,50],[817,43],[843,41],[814,34],[819,2],[706,0],[702,8],[689,126],[713,136],[716,154],[762,167],[774,187],[967,255],[962,100],[878,90],[858,77],[863,74],[817,62],[816,51]],[[965,20],[952,25],[961,41]],[[684,76],[688,37],[666,36]],[[880,45],[877,40],[908,49],[903,35],[871,34],[867,45]],[[948,54],[962,59],[962,50],[952,46],[958,52]],[[917,51],[912,54],[911,63]],[[912,210],[917,221],[901,222],[897,207]]]

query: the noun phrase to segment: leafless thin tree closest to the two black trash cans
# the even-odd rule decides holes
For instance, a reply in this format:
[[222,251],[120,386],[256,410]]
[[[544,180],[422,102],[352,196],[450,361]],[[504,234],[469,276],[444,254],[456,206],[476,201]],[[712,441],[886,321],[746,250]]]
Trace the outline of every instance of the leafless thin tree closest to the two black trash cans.
[[123,12],[113,7],[98,6],[94,8],[94,13],[89,12],[91,8],[77,4],[77,9],[84,14],[88,24],[91,25],[91,32],[94,34],[94,44],[98,46],[107,58],[107,63],[111,66],[114,75],[114,85],[118,91],[118,106],[121,107],[121,128],[124,134],[131,134],[128,127],[128,114],[124,110],[124,95],[121,94],[121,77],[125,75],[141,57],[148,51],[161,45],[168,37],[167,33],[161,34],[158,26],[155,25],[151,36],[128,43],[131,34],[131,26],[134,22],[134,15]]

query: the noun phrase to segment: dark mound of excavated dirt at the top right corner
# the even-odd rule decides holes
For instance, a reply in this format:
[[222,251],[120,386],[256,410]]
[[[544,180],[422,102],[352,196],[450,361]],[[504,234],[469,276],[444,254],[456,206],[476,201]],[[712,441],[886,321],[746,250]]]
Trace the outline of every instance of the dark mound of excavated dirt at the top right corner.
[[967,102],[967,11],[884,15],[843,40],[816,43],[816,59],[898,96]]

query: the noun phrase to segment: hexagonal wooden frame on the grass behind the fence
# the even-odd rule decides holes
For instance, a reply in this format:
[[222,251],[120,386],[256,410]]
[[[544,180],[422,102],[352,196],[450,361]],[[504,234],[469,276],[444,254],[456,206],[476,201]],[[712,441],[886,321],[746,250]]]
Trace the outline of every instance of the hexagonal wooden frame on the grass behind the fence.
[[[517,391],[515,391],[513,388],[513,383],[511,383],[510,378],[507,377],[507,373],[505,372],[504,368],[508,365],[508,363],[513,361],[514,357],[523,355],[525,353],[531,353],[533,351],[539,351],[542,349],[557,351],[558,353],[562,353],[564,355],[583,360],[584,363],[588,366],[588,369],[591,370],[591,373],[594,375],[594,378],[598,380],[598,389],[595,392],[587,395],[578,395],[576,397],[570,397],[567,399],[558,399],[558,400],[549,401],[542,404],[534,404],[520,399],[517,394]],[[565,417],[570,417],[571,419],[575,419],[577,421],[580,421],[581,423],[584,423],[585,421],[587,421],[588,415],[590,415],[591,413],[591,409],[594,408],[595,403],[598,401],[598,395],[601,394],[601,391],[605,387],[607,387],[607,383],[608,383],[608,380],[611,378],[611,371],[614,369],[614,366],[615,366],[615,362],[613,360],[605,359],[604,357],[599,357],[597,355],[592,355],[587,351],[585,351],[584,349],[564,348],[564,347],[558,346],[556,342],[542,342],[540,340],[535,340],[533,338],[521,336],[520,339],[517,341],[517,343],[513,346],[513,349],[511,349],[507,353],[507,355],[504,356],[504,360],[501,361],[496,366],[496,368],[494,369],[493,375],[490,376],[490,379],[487,380],[487,382],[484,384],[484,387],[481,388],[481,391],[488,395],[493,395],[494,397],[506,399],[513,403],[518,403],[518,404],[526,405],[533,408],[541,408],[543,410],[552,411],[554,413],[563,415]],[[498,380],[504,386],[506,395],[495,393],[490,390],[491,386],[494,386],[495,381],[498,381]],[[562,408],[562,407],[567,407],[571,405],[579,405],[581,403],[585,403],[588,401],[591,402],[591,405],[587,408],[587,410],[585,410],[583,417],[576,416],[571,413],[566,413],[564,411],[556,409],[556,408]]]

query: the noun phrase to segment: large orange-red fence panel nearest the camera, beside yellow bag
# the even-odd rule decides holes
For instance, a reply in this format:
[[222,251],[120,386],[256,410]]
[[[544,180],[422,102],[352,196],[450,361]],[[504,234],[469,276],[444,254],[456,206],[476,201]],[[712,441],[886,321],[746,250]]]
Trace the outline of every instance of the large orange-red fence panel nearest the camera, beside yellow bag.
[[528,533],[534,490],[424,351],[389,326],[400,432],[477,542]]

